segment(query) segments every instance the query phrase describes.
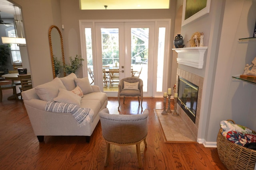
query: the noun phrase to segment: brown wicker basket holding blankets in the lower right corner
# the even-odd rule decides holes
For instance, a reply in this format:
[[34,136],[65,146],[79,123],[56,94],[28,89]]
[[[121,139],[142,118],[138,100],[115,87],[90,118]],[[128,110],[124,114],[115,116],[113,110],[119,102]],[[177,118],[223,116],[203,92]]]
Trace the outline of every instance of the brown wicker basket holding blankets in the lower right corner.
[[[235,124],[233,120],[229,119],[227,121],[232,121]],[[256,134],[255,131],[252,131],[252,133]],[[254,170],[256,150],[248,149],[228,141],[222,135],[222,128],[220,128],[217,137],[217,150],[221,162],[229,170]]]

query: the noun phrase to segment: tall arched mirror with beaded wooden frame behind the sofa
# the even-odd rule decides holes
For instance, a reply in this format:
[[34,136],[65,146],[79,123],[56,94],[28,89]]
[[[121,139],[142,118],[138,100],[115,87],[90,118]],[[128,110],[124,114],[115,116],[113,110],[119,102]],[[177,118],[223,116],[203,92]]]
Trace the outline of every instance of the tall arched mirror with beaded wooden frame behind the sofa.
[[53,78],[65,77],[66,72],[63,71],[63,66],[65,65],[65,58],[63,40],[60,29],[57,26],[52,25],[49,28],[48,36],[50,44]]

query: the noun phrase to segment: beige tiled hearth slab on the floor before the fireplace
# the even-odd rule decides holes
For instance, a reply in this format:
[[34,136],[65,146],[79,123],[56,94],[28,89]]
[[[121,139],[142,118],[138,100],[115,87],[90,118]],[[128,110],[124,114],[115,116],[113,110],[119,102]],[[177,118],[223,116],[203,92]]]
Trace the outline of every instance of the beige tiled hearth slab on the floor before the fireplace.
[[180,116],[172,116],[172,113],[162,115],[162,111],[154,109],[165,143],[197,143]]

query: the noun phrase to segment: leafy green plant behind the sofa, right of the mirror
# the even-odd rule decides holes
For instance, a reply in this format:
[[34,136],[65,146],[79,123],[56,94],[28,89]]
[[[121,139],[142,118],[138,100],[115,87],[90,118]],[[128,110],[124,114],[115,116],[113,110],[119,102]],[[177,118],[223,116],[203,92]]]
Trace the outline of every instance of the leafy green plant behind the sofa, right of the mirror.
[[78,70],[78,68],[83,65],[83,60],[84,59],[82,59],[82,57],[78,55],[76,55],[74,59],[72,59],[72,57],[69,57],[70,64],[64,65],[64,72],[66,72],[67,74],[71,74],[72,72],[76,73],[76,70]]

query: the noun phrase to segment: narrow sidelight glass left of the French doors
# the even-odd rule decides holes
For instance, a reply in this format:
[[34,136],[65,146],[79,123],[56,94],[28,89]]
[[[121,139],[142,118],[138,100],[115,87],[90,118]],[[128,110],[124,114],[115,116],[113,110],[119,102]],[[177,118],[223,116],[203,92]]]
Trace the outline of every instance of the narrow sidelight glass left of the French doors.
[[91,84],[94,84],[93,60],[92,60],[92,29],[85,28],[86,36],[86,58],[88,68],[88,78]]

